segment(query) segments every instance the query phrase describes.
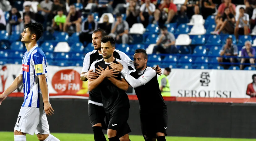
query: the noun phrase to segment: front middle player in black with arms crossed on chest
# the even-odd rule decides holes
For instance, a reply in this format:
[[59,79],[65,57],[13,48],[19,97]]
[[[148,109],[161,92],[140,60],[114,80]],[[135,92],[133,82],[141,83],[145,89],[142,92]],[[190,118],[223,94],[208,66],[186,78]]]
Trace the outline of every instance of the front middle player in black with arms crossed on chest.
[[[98,71],[100,76],[95,80],[88,81],[89,91],[99,88],[101,93],[104,110],[106,112],[106,120],[109,121],[107,127],[107,136],[109,141],[123,140],[129,141],[128,133],[131,129],[127,123],[129,118],[129,98],[125,91],[128,90],[128,83],[122,78],[121,74],[110,68],[111,62],[120,62],[127,66],[126,62],[114,57],[115,40],[111,36],[101,38],[101,52],[103,59],[93,62],[90,70]],[[105,70],[104,70],[105,69]]]

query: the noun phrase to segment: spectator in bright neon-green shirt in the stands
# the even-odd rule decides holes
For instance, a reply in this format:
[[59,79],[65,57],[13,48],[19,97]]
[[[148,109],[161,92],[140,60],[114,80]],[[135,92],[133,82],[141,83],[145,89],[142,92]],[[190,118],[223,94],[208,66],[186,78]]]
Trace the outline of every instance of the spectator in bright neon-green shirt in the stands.
[[66,22],[66,15],[63,14],[62,8],[57,12],[58,14],[54,17],[52,21],[52,28],[57,31],[63,31],[63,25]]

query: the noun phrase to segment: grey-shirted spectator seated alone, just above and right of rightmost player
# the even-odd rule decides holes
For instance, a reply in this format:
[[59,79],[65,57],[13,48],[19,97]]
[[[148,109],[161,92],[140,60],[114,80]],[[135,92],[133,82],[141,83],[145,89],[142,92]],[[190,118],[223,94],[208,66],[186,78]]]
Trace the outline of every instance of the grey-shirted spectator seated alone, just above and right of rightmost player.
[[175,37],[171,32],[168,32],[167,27],[161,28],[161,34],[158,35],[158,41],[153,49],[153,54],[176,54],[178,53],[175,46]]

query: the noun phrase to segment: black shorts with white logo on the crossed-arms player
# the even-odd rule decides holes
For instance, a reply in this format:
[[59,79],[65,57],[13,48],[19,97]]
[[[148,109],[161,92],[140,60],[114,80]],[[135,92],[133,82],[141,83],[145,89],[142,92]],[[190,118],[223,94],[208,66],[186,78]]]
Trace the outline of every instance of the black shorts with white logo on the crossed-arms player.
[[108,123],[107,129],[117,131],[118,138],[131,132],[131,129],[127,123],[129,118],[129,109],[118,109],[106,113],[106,121]]

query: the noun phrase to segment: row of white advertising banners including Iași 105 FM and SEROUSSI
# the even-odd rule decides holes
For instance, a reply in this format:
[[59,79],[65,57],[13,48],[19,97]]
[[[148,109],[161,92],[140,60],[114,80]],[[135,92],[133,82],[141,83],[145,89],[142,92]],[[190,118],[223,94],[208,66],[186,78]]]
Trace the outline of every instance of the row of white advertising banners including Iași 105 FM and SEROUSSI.
[[[21,65],[0,65],[0,92],[19,75]],[[80,81],[82,67],[47,67],[49,93],[85,94],[87,81]],[[172,69],[168,77],[171,96],[248,98],[247,85],[252,82],[253,70],[195,70]],[[15,92],[23,92],[22,86]]]

